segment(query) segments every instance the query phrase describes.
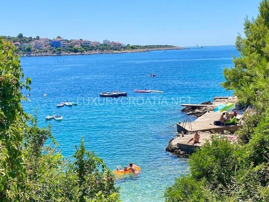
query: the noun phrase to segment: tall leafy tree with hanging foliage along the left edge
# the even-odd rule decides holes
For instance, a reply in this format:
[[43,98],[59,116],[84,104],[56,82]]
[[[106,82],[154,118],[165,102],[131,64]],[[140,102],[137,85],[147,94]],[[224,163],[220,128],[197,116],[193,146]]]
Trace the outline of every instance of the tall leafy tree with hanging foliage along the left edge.
[[21,146],[26,114],[20,89],[30,89],[15,48],[0,38],[0,201],[19,201],[25,187],[25,166]]

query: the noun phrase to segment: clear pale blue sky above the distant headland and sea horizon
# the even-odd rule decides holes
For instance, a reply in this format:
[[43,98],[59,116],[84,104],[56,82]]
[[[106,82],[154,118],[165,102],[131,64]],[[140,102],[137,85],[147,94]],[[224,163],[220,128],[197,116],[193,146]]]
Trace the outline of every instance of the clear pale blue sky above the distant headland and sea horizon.
[[0,35],[232,45],[260,0],[0,0]]

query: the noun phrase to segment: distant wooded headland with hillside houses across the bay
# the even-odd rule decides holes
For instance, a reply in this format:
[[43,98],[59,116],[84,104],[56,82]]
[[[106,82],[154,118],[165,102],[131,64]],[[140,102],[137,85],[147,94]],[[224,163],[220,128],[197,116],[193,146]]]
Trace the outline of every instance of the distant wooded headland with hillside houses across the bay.
[[17,37],[0,36],[17,48],[20,56],[47,56],[47,55],[81,55],[81,54],[106,54],[106,53],[130,53],[148,52],[152,50],[183,49],[172,45],[130,45],[108,39],[90,41],[87,39],[63,39],[57,36],[54,39],[47,37],[25,37],[19,33]]

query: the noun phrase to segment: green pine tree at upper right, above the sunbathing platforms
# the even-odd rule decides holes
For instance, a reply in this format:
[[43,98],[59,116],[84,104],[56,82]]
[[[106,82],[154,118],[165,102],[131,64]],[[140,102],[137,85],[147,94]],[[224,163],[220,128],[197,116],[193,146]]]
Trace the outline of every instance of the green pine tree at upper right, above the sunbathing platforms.
[[[234,58],[234,67],[224,69],[227,90],[234,90],[242,104],[249,105],[263,97],[261,88],[268,84],[269,70],[269,1],[260,3],[259,15],[254,20],[245,19],[246,38],[237,36],[236,48],[239,58]],[[267,99],[268,97],[266,97]],[[261,99],[260,99],[261,100]]]

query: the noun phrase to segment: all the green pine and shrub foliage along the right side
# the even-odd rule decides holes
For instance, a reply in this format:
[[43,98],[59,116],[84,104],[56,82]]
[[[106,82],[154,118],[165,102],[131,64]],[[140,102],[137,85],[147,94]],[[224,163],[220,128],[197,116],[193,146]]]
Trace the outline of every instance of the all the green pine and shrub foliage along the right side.
[[240,57],[224,69],[223,87],[249,107],[239,141],[215,137],[192,154],[190,174],[166,189],[167,202],[269,201],[269,0],[259,11],[245,19],[245,37],[236,39]]

